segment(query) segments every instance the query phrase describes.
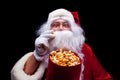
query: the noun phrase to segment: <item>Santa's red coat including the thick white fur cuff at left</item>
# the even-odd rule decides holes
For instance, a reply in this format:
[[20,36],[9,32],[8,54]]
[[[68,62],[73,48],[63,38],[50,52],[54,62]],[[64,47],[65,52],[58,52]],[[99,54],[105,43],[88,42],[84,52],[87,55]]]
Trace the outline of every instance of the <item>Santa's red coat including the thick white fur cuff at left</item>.
[[[83,45],[82,53],[84,54],[84,71],[83,80],[113,80],[112,76],[103,68],[97,60],[91,47]],[[35,74],[27,75],[24,73],[24,64],[33,52],[24,55],[11,70],[11,80],[45,80],[45,64],[41,63]]]

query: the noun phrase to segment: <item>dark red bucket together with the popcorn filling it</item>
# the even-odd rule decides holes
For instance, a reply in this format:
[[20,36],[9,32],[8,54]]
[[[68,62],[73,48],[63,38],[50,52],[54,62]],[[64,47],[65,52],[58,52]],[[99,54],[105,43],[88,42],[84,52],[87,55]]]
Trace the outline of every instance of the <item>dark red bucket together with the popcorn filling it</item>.
[[46,80],[79,80],[81,58],[71,50],[50,52]]

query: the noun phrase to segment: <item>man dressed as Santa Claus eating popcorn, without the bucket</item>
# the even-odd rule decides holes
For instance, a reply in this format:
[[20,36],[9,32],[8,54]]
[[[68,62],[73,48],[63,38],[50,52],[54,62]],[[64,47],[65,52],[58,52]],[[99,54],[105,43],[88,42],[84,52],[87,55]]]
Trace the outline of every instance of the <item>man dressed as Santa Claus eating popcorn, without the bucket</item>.
[[50,12],[47,22],[37,31],[35,50],[17,61],[11,70],[11,80],[45,80],[49,53],[57,49],[71,50],[81,58],[78,80],[113,80],[85,43],[84,31],[78,23],[66,9]]

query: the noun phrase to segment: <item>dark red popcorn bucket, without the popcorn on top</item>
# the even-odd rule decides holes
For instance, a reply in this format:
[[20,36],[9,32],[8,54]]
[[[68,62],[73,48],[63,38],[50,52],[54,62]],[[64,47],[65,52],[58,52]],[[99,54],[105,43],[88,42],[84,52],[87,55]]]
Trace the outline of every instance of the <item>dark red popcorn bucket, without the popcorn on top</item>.
[[80,71],[81,64],[76,66],[59,66],[49,58],[46,80],[79,80]]

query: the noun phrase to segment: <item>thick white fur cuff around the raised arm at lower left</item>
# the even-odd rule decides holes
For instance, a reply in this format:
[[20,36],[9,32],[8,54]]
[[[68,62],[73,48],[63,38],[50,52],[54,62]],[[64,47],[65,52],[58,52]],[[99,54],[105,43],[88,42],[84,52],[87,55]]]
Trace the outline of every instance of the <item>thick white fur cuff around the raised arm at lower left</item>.
[[39,68],[33,75],[27,75],[23,71],[27,59],[32,54],[33,52],[25,54],[20,60],[17,61],[17,63],[14,65],[14,67],[11,70],[11,80],[41,80],[45,71],[45,64],[43,62],[40,64]]

